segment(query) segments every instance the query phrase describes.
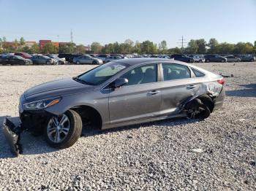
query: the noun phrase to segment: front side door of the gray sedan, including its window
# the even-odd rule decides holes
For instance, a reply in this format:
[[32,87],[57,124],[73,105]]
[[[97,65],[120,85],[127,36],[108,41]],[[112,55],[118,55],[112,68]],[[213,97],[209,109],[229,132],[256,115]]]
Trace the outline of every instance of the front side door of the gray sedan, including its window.
[[142,120],[158,114],[161,92],[157,74],[158,64],[150,63],[131,69],[122,76],[129,82],[110,92],[110,123]]

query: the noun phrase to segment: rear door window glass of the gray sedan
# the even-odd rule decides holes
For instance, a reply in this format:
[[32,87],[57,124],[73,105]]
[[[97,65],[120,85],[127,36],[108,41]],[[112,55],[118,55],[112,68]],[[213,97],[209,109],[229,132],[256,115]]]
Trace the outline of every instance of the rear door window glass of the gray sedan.
[[162,69],[164,74],[164,81],[173,79],[186,79],[191,77],[189,68],[180,64],[162,63]]

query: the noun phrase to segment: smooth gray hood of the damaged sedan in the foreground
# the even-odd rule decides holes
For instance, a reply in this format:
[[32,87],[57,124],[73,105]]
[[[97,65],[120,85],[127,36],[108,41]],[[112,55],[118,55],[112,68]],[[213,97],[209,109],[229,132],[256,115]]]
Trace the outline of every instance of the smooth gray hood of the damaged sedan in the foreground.
[[29,90],[26,90],[24,96],[27,101],[36,101],[45,98],[86,92],[93,89],[94,86],[92,85],[85,85],[76,82],[72,78],[65,78],[31,87]]

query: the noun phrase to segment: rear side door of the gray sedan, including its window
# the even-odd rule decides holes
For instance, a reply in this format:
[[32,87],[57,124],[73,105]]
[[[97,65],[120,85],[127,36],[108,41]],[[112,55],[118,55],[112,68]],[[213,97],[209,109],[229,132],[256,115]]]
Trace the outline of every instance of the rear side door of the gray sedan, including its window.
[[162,115],[175,114],[184,101],[195,95],[199,89],[197,79],[192,78],[187,66],[176,63],[162,63],[162,93],[160,112]]

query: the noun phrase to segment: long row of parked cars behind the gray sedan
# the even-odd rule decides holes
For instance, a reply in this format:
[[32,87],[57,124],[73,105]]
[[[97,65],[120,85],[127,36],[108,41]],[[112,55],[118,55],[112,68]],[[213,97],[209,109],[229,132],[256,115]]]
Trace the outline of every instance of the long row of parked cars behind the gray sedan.
[[[124,58],[167,58],[187,63],[203,62],[241,62],[256,61],[255,55],[117,55],[117,54],[45,54],[29,55],[26,52],[16,52],[12,55],[0,55],[0,64],[17,65],[17,64],[102,64]],[[28,61],[29,60],[29,61]]]

